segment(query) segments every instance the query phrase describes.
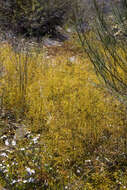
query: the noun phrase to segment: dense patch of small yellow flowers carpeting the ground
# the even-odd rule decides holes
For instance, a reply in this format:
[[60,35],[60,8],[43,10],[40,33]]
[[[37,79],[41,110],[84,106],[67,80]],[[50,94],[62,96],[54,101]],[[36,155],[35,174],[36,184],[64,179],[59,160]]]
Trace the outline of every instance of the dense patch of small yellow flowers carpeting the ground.
[[[103,149],[109,155],[116,144],[123,150],[118,139],[124,136],[126,114],[100,85],[88,58],[71,53],[44,56],[36,50],[15,53],[4,45],[0,63],[4,68],[0,79],[3,105],[23,118],[30,130],[41,134],[40,143],[48,150],[48,154],[42,152],[42,169],[49,183],[52,173],[44,163],[50,163],[54,172],[68,181],[70,170],[75,173],[75,167],[91,155],[94,159]],[[118,140],[115,145],[114,139]],[[111,181],[104,177],[91,177],[98,189],[109,189]],[[69,180],[73,183],[76,179],[75,174]],[[84,184],[82,179],[79,182]],[[94,186],[86,182],[84,189]]]

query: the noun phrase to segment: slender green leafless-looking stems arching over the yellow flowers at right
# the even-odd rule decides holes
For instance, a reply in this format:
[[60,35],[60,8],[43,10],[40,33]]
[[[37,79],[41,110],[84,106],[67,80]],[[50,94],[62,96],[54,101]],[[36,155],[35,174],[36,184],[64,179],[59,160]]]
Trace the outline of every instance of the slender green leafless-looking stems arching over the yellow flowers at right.
[[[78,33],[85,52],[87,52],[96,74],[111,93],[126,105],[127,59],[126,32],[127,7],[112,7],[112,13],[104,15],[93,1],[96,21],[90,34]],[[97,48],[98,47],[98,48]]]

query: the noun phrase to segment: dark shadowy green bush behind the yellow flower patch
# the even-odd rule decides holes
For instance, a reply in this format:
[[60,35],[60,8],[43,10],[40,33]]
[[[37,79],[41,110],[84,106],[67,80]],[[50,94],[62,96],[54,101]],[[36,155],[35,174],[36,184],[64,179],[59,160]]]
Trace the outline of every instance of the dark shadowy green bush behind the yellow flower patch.
[[67,22],[74,2],[70,0],[13,0],[1,4],[2,25],[24,36],[55,35],[56,27]]

